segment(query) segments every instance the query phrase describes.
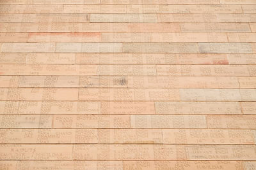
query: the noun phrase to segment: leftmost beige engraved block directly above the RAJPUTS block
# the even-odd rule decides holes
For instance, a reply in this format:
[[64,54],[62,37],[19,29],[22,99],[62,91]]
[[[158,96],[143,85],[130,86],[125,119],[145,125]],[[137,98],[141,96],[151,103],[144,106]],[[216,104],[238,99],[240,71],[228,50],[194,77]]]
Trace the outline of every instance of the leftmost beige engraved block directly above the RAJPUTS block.
[[97,143],[96,129],[1,129],[0,143]]

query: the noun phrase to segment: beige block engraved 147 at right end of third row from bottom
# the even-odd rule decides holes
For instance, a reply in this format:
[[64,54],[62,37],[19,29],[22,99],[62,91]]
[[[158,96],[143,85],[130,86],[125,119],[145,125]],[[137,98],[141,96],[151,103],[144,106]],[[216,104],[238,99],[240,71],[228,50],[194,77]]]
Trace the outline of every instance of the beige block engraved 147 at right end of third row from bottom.
[[250,144],[253,130],[237,129],[163,129],[164,144]]

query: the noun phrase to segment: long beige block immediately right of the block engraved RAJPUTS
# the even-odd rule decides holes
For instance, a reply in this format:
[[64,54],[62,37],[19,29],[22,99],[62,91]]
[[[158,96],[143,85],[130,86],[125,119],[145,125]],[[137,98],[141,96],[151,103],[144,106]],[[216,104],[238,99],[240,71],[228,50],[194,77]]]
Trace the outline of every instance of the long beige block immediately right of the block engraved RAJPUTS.
[[74,145],[74,160],[177,160],[186,159],[175,145]]

